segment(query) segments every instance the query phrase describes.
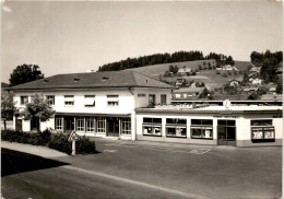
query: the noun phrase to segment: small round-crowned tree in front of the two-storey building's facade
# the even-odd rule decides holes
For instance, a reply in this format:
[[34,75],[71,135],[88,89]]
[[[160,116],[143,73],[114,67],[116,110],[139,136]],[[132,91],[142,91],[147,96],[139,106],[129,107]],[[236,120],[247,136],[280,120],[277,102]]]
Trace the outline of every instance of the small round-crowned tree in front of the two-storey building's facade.
[[47,121],[54,117],[55,110],[50,102],[43,94],[35,93],[32,95],[32,102],[26,104],[25,109],[21,113],[24,120],[35,120],[39,131],[39,121]]

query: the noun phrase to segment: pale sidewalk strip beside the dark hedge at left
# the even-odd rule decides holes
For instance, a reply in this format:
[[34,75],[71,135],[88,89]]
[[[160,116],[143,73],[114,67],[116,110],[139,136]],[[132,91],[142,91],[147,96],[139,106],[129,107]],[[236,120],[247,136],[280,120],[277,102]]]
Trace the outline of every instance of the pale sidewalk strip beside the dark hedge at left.
[[43,157],[59,157],[68,156],[68,154],[40,145],[31,145],[16,142],[1,141],[1,148],[10,149],[14,151],[21,151]]

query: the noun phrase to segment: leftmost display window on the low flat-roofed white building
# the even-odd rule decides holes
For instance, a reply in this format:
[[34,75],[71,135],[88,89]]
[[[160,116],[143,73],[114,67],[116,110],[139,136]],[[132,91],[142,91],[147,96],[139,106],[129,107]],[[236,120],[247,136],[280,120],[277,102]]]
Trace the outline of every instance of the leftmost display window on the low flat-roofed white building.
[[143,118],[143,136],[162,136],[162,118]]

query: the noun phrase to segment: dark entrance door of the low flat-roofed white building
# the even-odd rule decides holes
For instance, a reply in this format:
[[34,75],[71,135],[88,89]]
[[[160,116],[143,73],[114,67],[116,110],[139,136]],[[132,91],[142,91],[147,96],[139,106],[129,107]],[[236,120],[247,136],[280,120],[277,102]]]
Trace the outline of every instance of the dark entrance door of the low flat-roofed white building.
[[217,144],[236,145],[236,121],[222,120],[217,121]]

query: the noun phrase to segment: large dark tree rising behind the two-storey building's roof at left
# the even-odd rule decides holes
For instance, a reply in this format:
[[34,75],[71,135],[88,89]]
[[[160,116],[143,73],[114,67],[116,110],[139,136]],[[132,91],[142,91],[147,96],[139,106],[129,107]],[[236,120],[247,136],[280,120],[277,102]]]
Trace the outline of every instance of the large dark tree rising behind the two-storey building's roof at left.
[[10,74],[10,86],[43,79],[44,74],[37,65],[17,66]]

